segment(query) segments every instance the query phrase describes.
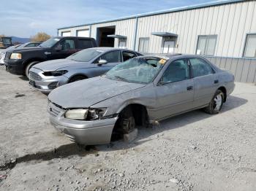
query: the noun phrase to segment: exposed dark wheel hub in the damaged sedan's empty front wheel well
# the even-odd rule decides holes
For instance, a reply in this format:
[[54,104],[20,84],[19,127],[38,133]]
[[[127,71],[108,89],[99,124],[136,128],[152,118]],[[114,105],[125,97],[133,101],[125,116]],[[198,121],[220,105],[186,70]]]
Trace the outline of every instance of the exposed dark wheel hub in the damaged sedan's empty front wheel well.
[[135,117],[130,108],[124,109],[121,113],[120,125],[123,133],[130,133],[135,129]]

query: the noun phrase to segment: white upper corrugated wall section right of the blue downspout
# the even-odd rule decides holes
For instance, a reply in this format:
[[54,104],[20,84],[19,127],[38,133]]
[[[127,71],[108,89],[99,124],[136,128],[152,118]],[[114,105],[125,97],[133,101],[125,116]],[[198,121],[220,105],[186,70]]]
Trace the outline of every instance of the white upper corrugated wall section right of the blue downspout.
[[138,38],[150,37],[149,52],[161,53],[162,37],[152,32],[178,34],[175,51],[188,54],[195,54],[198,35],[217,34],[214,55],[241,57],[246,34],[256,32],[256,1],[140,17]]

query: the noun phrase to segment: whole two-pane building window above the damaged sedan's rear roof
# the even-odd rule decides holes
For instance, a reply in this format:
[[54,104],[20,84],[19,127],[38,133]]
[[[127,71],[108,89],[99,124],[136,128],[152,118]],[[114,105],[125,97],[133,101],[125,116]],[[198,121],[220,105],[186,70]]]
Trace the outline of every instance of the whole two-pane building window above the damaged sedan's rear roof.
[[197,55],[214,55],[217,35],[200,35],[197,41]]

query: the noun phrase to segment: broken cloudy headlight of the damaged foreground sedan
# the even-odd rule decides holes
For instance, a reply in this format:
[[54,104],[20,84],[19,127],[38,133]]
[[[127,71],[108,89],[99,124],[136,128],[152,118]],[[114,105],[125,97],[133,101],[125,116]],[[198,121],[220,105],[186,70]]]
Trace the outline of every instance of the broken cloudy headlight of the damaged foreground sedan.
[[72,120],[99,120],[101,119],[107,108],[100,109],[70,109],[65,113],[65,118]]

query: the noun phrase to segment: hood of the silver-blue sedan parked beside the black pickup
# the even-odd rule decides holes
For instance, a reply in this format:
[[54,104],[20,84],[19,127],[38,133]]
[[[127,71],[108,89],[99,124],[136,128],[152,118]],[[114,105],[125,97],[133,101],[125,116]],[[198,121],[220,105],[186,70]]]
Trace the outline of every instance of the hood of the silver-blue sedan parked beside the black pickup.
[[58,59],[53,61],[45,61],[42,63],[37,63],[37,65],[35,65],[34,68],[40,69],[42,71],[54,71],[54,70],[65,69],[65,68],[67,69],[67,67],[89,68],[93,66],[94,64],[91,64],[91,63],[72,61],[68,59]]

